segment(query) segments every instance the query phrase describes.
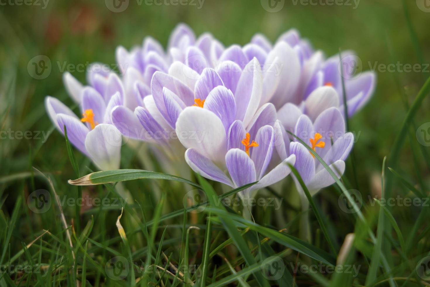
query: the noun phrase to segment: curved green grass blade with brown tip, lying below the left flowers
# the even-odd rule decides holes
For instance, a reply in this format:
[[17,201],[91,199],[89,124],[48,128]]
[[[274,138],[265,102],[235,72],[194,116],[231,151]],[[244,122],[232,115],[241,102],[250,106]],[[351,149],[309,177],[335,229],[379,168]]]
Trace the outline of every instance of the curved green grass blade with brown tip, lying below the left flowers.
[[157,173],[148,170],[106,170],[87,174],[79,179],[69,179],[71,185],[98,185],[105,183],[123,182],[134,179],[166,179],[177,182],[184,182],[197,188],[201,188],[195,182],[189,181],[179,176],[172,176],[166,173]]

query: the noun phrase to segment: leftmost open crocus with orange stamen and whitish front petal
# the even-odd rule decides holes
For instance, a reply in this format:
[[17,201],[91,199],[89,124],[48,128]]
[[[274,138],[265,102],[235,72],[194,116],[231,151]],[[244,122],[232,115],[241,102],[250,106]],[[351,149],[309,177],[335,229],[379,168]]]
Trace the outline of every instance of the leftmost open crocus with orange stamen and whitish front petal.
[[[101,82],[95,80],[95,83]],[[46,97],[45,107],[61,133],[64,134],[64,126],[67,128],[72,145],[91,158],[101,170],[114,170],[120,165],[122,141],[120,131],[110,124],[110,114],[113,107],[122,105],[124,90],[116,74],[108,74],[103,83],[82,87],[79,96],[81,118],[51,96]]]

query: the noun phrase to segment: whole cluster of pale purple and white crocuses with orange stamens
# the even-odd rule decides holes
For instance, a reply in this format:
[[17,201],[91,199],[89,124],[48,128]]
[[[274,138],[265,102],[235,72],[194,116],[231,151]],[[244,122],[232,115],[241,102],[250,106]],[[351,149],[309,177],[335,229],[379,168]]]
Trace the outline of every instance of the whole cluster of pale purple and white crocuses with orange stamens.
[[211,34],[196,38],[180,24],[166,51],[151,37],[130,51],[119,47],[121,78],[89,71],[89,86],[82,86],[66,73],[81,117],[52,97],[46,109],[58,130],[66,126],[72,144],[102,170],[119,167],[120,144],[109,145],[121,133],[163,147],[208,179],[232,187],[258,182],[243,197],[284,179],[288,164],[315,194],[334,179],[286,131],[342,176],[354,141],[345,131],[342,83],[348,116],[375,89],[375,74],[354,74],[354,57],[345,52],[325,59],[295,30],[274,45],[256,34],[244,46],[224,48]]

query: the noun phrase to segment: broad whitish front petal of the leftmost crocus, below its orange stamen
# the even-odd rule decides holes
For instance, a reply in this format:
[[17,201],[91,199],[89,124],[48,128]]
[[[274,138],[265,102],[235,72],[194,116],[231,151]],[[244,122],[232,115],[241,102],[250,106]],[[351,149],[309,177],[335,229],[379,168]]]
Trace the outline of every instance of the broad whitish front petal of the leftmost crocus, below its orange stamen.
[[100,170],[120,168],[121,139],[120,131],[111,124],[98,124],[85,139],[89,157]]

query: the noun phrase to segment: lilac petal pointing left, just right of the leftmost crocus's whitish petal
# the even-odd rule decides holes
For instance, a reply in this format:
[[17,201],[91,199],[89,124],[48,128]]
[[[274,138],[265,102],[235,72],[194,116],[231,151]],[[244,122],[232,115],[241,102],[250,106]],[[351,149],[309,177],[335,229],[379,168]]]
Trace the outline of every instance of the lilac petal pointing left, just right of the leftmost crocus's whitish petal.
[[112,123],[124,136],[143,141],[150,140],[147,131],[129,108],[124,106],[115,107],[112,110]]

